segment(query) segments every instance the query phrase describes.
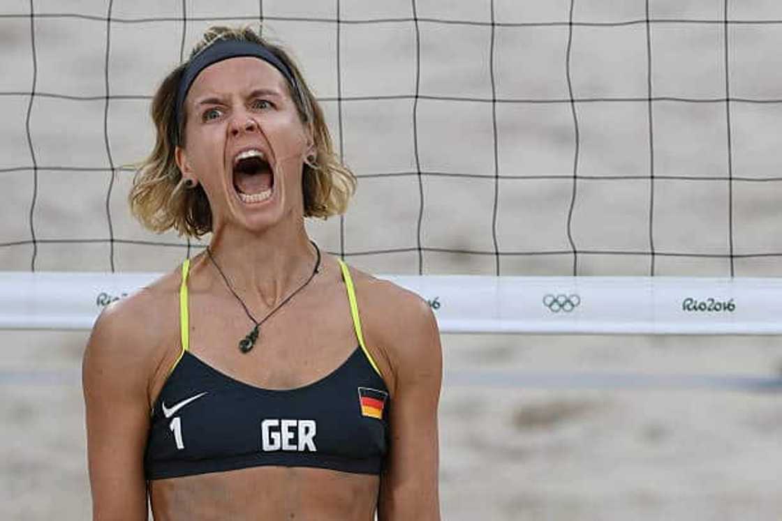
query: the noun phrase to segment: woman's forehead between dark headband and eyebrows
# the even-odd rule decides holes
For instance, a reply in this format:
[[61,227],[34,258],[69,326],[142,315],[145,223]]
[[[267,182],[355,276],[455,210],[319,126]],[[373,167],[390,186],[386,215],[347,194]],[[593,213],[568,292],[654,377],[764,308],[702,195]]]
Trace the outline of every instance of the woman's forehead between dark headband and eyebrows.
[[288,95],[287,83],[282,73],[270,63],[253,56],[239,56],[213,63],[202,70],[188,91],[188,101],[204,95],[228,95],[257,88]]

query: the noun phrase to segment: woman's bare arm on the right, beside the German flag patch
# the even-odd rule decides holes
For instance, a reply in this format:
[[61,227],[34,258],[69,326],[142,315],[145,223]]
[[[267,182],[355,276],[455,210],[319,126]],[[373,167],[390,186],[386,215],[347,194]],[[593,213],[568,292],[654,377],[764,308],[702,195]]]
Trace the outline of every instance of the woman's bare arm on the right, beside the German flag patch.
[[385,325],[391,335],[386,352],[394,382],[390,452],[381,476],[378,520],[437,521],[437,405],[443,372],[439,331],[421,298],[404,294],[396,309]]

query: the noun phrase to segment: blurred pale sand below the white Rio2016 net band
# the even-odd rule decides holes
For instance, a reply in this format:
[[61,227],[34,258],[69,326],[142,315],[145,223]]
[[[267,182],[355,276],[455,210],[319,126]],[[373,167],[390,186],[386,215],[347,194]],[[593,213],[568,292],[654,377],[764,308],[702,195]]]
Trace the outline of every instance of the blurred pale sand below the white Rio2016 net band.
[[[89,519],[86,336],[0,334],[0,519]],[[776,338],[447,335],[443,347],[443,519],[779,519],[778,387],[452,384],[475,369],[511,370],[522,381],[770,376],[782,367]]]

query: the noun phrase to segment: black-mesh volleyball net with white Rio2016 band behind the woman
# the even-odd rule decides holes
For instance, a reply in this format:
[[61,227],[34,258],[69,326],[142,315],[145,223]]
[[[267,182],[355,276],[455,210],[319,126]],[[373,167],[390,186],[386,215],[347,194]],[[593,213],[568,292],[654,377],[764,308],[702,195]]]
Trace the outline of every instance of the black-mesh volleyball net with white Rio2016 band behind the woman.
[[0,7],[0,327],[89,327],[208,243],[142,230],[124,165],[203,30],[260,23],[359,179],[311,236],[443,330],[780,333],[782,9],[375,4]]

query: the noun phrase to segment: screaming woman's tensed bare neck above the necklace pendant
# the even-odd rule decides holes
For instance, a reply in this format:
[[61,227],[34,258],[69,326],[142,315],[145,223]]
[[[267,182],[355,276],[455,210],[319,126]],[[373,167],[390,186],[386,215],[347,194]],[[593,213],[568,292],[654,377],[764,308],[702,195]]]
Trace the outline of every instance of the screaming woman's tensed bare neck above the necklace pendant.
[[[256,319],[296,291],[314,270],[316,255],[303,220],[300,226],[287,227],[289,230],[274,227],[260,234],[220,228],[210,242],[214,261]],[[204,261],[210,262],[209,257]],[[224,285],[216,266],[211,267],[213,277]],[[230,293],[228,288],[225,291]]]

